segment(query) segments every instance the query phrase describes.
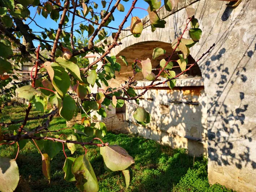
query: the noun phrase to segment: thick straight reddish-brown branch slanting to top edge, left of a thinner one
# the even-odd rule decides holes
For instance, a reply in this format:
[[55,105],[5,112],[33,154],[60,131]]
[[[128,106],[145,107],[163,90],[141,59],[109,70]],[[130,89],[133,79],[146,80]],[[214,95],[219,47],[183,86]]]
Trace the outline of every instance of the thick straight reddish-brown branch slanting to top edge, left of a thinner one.
[[65,20],[66,13],[68,11],[68,4],[69,4],[69,0],[66,0],[65,3],[64,3],[64,9],[63,9],[63,12],[62,12],[62,15],[61,15],[61,18],[60,18],[59,28],[57,30],[56,37],[55,37],[55,40],[54,40],[54,43],[53,43],[53,46],[52,46],[52,52],[51,52],[51,55],[50,55],[51,58],[52,58],[52,62],[54,61],[54,58],[55,58],[55,52],[56,52],[58,42],[59,42],[59,39],[60,39],[60,33],[62,31],[62,26],[63,26],[64,20]]

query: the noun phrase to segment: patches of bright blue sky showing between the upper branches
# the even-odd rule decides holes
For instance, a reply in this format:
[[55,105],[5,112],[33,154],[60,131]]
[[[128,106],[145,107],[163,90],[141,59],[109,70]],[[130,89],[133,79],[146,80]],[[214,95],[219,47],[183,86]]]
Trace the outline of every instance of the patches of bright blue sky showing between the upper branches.
[[[101,5],[101,1],[100,0],[95,0],[95,2],[98,3],[99,6],[98,6],[97,11],[100,12],[100,10],[103,9],[102,5]],[[61,4],[63,5],[63,2],[61,2]],[[118,26],[120,25],[120,23],[124,19],[124,16],[127,14],[128,10],[130,9],[130,7],[132,5],[132,0],[129,0],[128,2],[121,1],[121,4],[124,5],[125,10],[124,10],[124,12],[120,12],[118,10],[115,10],[115,12],[114,12],[115,21],[112,21],[109,24],[109,26],[111,26],[111,27],[118,28]],[[106,8],[107,8],[107,6],[108,6],[108,3],[106,5]],[[92,7],[93,7],[93,5],[92,5]],[[136,3],[135,7],[141,7],[141,8],[147,9],[148,8],[148,4],[144,0],[138,0],[138,2]],[[106,10],[106,8],[104,8],[104,9]],[[36,14],[36,17],[35,17],[34,20],[41,27],[47,28],[47,29],[50,29],[50,28],[57,29],[58,28],[58,24],[60,22],[60,19],[57,22],[55,22],[54,20],[52,20],[50,18],[50,15],[48,15],[47,19],[45,19],[42,15],[38,15],[36,13],[36,7],[30,7],[29,10],[30,10],[30,17],[31,18],[33,18],[35,16],[35,14]],[[80,11],[82,11],[82,10],[80,10]],[[62,12],[60,12],[60,14],[61,13]],[[132,15],[133,16],[138,16],[139,18],[143,18],[146,15],[148,15],[148,12],[145,11],[145,10],[142,10],[142,9],[134,9],[132,11]],[[70,14],[69,22],[68,22],[67,26],[71,25],[71,19],[72,19],[72,15]],[[30,21],[31,21],[30,19],[27,19],[26,24],[28,24]],[[77,16],[75,17],[75,23],[78,23],[78,22],[81,22],[81,21],[83,21],[82,18],[79,18]],[[83,22],[83,24],[86,24],[86,23],[87,23],[87,21]],[[124,24],[124,28],[128,27],[130,24],[131,24],[131,15],[128,18],[127,22]],[[33,21],[29,24],[29,27],[32,28],[33,31],[35,31],[35,32],[43,31],[43,29],[37,27],[36,24]],[[79,24],[74,26],[74,30],[78,29],[78,28],[79,28]],[[109,28],[105,28],[105,30],[108,31],[108,34],[110,34],[111,32],[116,32],[116,30],[113,30],[113,29],[110,30]],[[66,28],[66,31],[70,32],[70,27]],[[41,35],[41,34],[37,33],[36,35]],[[75,36],[79,36],[80,34],[78,34],[77,32],[74,32],[74,35]],[[87,31],[84,31],[84,36],[85,37],[88,36]],[[37,46],[38,42],[36,42],[36,41],[34,41],[34,42],[35,42],[35,46]]]

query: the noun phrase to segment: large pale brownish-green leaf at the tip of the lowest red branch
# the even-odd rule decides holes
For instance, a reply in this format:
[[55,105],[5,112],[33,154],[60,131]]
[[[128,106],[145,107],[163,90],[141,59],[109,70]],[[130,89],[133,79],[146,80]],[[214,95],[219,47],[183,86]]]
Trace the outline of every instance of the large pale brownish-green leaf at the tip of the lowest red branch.
[[111,171],[123,171],[134,163],[132,156],[118,145],[101,147],[100,155],[103,157],[104,165]]

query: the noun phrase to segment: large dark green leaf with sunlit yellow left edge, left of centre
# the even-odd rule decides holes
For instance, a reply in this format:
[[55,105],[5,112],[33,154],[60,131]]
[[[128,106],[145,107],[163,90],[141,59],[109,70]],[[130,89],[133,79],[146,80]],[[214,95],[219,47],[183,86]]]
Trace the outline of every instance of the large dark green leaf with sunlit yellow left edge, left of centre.
[[[70,86],[69,75],[64,68],[60,67],[58,63],[52,62],[51,68],[54,74],[53,76],[49,74],[49,76],[52,79],[52,85],[56,89],[56,91],[60,94],[60,96],[63,97],[67,93]],[[48,72],[52,73],[52,71],[48,71]]]

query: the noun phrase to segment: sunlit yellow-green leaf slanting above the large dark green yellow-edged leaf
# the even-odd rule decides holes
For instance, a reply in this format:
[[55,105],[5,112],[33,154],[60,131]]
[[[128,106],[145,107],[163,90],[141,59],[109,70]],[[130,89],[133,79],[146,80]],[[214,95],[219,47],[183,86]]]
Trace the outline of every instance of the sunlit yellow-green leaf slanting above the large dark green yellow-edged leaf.
[[81,76],[80,76],[80,70],[79,67],[73,63],[70,60],[65,60],[62,57],[58,57],[56,59],[56,62],[59,63],[59,65],[65,69],[68,70],[74,76],[78,81],[83,82]]

